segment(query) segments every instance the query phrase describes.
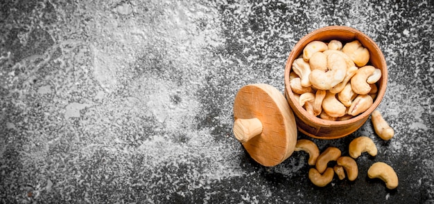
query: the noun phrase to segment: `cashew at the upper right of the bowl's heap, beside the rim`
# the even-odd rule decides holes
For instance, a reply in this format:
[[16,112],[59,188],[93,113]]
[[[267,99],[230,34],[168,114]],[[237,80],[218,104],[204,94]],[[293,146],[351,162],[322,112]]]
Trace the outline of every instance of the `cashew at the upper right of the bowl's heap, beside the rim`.
[[345,44],[342,48],[342,52],[347,54],[357,66],[365,66],[370,60],[370,51],[363,47],[358,40]]

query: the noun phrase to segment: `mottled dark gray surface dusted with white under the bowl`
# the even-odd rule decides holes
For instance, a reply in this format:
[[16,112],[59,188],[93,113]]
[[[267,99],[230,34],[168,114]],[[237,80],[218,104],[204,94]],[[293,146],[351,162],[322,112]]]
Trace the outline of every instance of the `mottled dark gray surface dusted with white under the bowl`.
[[[0,203],[433,203],[434,3],[1,1]],[[379,110],[354,182],[307,178],[304,152],[262,167],[232,134],[234,96],[266,83],[316,28],[366,33],[385,55]],[[368,120],[370,121],[370,120]],[[299,138],[307,138],[299,133]],[[399,187],[367,178],[390,164]]]

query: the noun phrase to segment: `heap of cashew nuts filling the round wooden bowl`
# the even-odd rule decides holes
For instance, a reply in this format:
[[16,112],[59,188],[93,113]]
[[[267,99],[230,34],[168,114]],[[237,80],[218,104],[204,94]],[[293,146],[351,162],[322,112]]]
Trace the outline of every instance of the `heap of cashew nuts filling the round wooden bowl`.
[[348,120],[372,106],[381,70],[367,65],[370,52],[358,40],[342,46],[311,41],[295,59],[290,87],[306,111],[325,120]]

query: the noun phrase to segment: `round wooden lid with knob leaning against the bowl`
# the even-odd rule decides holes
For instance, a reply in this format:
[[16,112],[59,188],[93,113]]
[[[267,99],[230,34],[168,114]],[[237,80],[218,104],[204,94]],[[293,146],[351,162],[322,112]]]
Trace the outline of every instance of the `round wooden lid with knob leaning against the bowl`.
[[235,97],[234,120],[234,135],[261,165],[278,165],[293,154],[297,125],[286,98],[275,87],[243,86]]

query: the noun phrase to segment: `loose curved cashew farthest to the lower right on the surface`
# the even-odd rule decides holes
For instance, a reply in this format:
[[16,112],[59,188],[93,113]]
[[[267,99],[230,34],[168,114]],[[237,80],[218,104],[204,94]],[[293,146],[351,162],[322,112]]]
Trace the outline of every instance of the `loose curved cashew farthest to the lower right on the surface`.
[[385,182],[385,187],[388,189],[398,187],[397,172],[386,163],[374,163],[370,169],[367,170],[367,176],[369,176],[369,178],[380,178]]

